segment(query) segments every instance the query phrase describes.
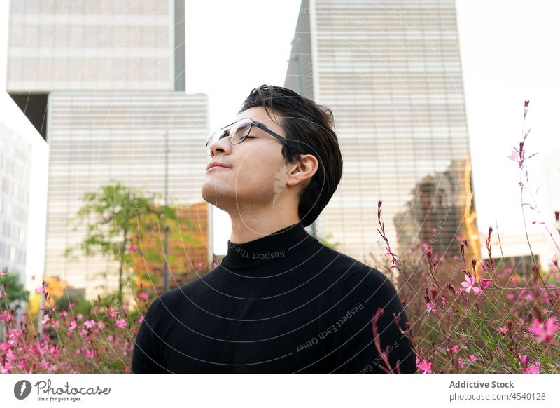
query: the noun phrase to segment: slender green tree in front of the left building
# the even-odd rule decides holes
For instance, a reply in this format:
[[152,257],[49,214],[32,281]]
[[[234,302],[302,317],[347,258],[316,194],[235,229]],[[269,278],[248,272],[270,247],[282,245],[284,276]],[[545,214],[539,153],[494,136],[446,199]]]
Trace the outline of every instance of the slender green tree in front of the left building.
[[[179,217],[171,205],[158,204],[158,196],[146,195],[116,183],[101,186],[83,196],[83,206],[69,219],[73,230],[85,229],[85,238],[76,247],[66,248],[66,257],[75,257],[77,250],[86,257],[101,254],[120,264],[118,297],[123,297],[123,281],[132,267],[129,240],[133,233],[164,231],[169,224],[192,227],[190,219]],[[149,252],[149,251],[148,251]],[[127,276],[125,276],[125,273]]]

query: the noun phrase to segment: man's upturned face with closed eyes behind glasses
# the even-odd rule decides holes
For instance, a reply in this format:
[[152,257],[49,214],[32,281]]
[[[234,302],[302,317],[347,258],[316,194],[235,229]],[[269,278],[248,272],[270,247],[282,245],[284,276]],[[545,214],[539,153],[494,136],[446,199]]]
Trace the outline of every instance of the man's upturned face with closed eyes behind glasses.
[[[272,111],[271,115],[274,117]],[[251,118],[286,137],[283,128],[269,118],[263,107],[247,109],[236,119],[240,118]],[[278,117],[274,120],[279,122]],[[241,215],[256,214],[258,210],[274,205],[283,190],[286,194],[288,168],[283,161],[282,147],[275,137],[256,126],[239,144],[231,144],[228,137],[214,141],[211,161],[228,168],[205,169],[202,198],[230,214],[232,211]]]

